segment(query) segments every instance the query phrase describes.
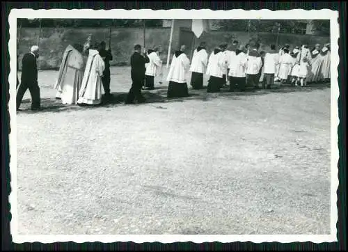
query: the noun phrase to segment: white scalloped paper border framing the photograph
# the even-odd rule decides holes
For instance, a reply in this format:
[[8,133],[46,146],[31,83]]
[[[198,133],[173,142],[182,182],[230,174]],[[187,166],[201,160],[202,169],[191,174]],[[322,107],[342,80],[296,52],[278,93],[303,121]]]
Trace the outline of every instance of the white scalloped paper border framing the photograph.
[[[17,54],[17,19],[18,18],[65,18],[65,19],[329,19],[330,44],[331,44],[331,233],[330,235],[18,235],[17,216],[17,118],[16,118],[16,54]],[[185,17],[185,18],[183,18]],[[338,208],[338,55],[339,24],[338,11],[322,10],[90,10],[90,9],[13,9],[8,17],[10,26],[10,40],[8,48],[10,53],[10,175],[11,192],[9,196],[10,212],[10,233],[13,242],[21,244],[24,242],[337,242]]]

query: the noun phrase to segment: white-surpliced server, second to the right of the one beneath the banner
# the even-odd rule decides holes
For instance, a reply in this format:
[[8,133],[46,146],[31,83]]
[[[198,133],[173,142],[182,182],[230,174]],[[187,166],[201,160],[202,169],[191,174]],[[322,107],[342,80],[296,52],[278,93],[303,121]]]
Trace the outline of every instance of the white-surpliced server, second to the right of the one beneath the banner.
[[230,79],[230,91],[233,92],[235,88],[244,91],[246,84],[246,49],[243,45],[239,46],[239,49],[235,50],[235,56],[233,61],[230,61],[228,68],[228,77]]

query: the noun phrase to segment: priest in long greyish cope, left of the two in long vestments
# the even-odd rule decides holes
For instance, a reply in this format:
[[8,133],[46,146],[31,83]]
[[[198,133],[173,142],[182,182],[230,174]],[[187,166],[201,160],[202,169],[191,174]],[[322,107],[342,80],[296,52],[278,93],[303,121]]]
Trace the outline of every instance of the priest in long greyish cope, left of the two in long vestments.
[[56,99],[63,104],[77,104],[82,78],[84,77],[84,56],[82,45],[68,45],[63,54],[63,61],[58,72],[54,88]]

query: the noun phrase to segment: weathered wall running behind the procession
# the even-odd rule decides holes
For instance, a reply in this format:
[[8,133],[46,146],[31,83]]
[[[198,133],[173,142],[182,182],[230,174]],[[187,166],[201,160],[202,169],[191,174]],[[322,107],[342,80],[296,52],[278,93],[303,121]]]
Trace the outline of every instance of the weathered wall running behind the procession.
[[[187,22],[184,24],[188,24]],[[19,48],[17,50],[19,56],[19,69],[22,68],[22,56],[29,52],[31,45],[35,45],[38,39],[39,29],[37,28],[22,28],[21,37],[19,38]],[[163,54],[161,58],[164,62],[167,59],[170,28],[146,29],[146,47],[152,48],[155,45],[161,45]],[[40,37],[40,58],[38,59],[38,68],[40,69],[57,69],[61,64],[63,52],[68,45],[74,43],[84,44],[88,34],[92,34],[94,41],[106,42],[109,44],[109,29],[100,28],[67,28],[54,29],[42,28]],[[253,35],[253,34],[251,34]],[[196,44],[205,41],[207,42],[207,49],[212,52],[212,49],[221,42],[230,42],[233,39],[239,40],[240,43],[246,44],[250,40],[250,36],[245,32],[224,32],[211,31],[210,33],[203,33],[203,35],[196,40]],[[276,34],[273,33],[258,33],[261,42],[262,50],[268,50],[268,45],[276,42]],[[173,45],[171,47],[171,55],[180,47],[180,29],[176,29],[173,34]],[[301,46],[301,44],[308,44],[313,47],[319,43],[321,45],[330,42],[329,37],[319,36],[299,36],[293,34],[280,33],[279,45],[285,43],[290,44],[291,47]],[[129,58],[133,52],[133,47],[136,44],[143,45],[143,29],[136,28],[119,28],[112,30],[111,50],[113,53],[113,61],[111,65],[129,65]],[[190,56],[191,49],[187,54]]]

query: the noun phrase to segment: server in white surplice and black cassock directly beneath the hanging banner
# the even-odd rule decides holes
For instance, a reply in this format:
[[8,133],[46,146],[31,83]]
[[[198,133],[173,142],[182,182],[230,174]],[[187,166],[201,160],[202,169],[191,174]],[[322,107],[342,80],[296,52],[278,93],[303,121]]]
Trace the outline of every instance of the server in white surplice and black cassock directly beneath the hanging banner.
[[206,43],[201,42],[194,50],[191,62],[191,86],[193,89],[203,88],[203,74],[207,70],[208,54]]

